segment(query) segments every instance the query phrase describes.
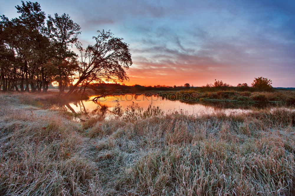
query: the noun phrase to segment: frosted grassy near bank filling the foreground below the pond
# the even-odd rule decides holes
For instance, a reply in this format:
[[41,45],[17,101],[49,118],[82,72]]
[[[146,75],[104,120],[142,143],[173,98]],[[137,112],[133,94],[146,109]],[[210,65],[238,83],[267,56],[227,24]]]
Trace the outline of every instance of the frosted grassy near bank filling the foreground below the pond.
[[79,123],[36,96],[0,95],[2,195],[295,193],[294,110]]

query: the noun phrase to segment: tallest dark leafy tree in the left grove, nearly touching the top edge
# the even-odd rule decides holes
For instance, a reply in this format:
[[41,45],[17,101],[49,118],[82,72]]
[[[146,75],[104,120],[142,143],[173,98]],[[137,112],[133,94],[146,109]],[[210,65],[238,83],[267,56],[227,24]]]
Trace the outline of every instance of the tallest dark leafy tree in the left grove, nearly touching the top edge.
[[23,57],[24,72],[26,73],[26,83],[28,90],[28,82],[30,82],[31,91],[35,92],[45,90],[46,70],[43,64],[50,59],[50,41],[45,35],[45,13],[41,10],[40,4],[37,2],[22,1],[22,6],[15,6],[17,13],[21,14],[19,18],[12,19],[12,22],[21,29],[15,35],[16,48],[18,53]]

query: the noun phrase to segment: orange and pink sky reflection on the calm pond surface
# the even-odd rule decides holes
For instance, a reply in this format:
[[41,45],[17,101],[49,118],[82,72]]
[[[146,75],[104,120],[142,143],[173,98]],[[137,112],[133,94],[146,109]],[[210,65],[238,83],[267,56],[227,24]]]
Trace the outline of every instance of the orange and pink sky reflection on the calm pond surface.
[[88,113],[96,112],[100,108],[104,108],[110,114],[113,107],[119,102],[123,109],[131,105],[132,102],[137,103],[138,106],[144,110],[148,108],[149,104],[159,107],[165,113],[170,111],[186,111],[188,114],[210,114],[213,112],[247,112],[252,110],[268,109],[276,106],[276,104],[242,104],[231,102],[182,102],[179,100],[171,101],[157,95],[146,96],[144,94],[126,94],[117,96],[107,96],[99,98],[97,101],[92,101],[96,96],[90,96],[89,100],[82,100],[78,102],[70,102],[68,107],[76,112]]

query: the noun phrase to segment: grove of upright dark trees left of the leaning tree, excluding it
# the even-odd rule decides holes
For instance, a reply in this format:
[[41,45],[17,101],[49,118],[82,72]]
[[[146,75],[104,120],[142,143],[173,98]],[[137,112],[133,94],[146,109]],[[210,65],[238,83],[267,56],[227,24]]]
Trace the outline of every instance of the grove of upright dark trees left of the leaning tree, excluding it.
[[[37,2],[15,6],[18,18],[0,16],[0,88],[3,91],[46,92],[57,81],[60,91],[78,72],[76,54],[70,47],[77,41],[80,26],[70,16],[48,16]],[[24,84],[26,85],[24,89]]]

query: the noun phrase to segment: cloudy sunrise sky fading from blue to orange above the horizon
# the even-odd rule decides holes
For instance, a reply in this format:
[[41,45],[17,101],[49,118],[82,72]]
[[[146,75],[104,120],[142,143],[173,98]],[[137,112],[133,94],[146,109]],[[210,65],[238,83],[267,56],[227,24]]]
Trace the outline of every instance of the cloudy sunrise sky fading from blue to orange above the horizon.
[[[35,1],[34,1],[35,2]],[[127,85],[231,85],[267,77],[295,87],[294,0],[39,0],[48,15],[66,13],[81,26],[83,46],[97,30],[130,45]],[[14,18],[21,1],[0,0]]]

